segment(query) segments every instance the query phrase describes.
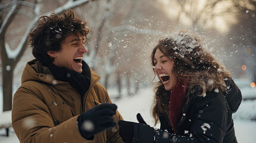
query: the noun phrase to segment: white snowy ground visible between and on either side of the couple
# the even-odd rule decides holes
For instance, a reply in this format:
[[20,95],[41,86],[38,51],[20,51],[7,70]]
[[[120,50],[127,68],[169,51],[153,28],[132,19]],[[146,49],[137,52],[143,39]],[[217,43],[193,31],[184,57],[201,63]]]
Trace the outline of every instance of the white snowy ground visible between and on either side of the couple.
[[[115,94],[109,91],[110,96]],[[1,97],[1,96],[0,96]],[[0,98],[2,99],[2,98]],[[116,101],[112,97],[112,102],[118,105],[118,111],[122,114],[125,120],[137,122],[136,114],[141,113],[144,120],[153,126],[153,118],[150,116],[150,109],[153,101],[152,89],[144,89],[139,94],[133,97],[123,97]],[[256,141],[255,128],[256,121],[249,120],[251,117],[256,117],[256,100],[243,101],[237,113],[233,114],[235,122],[235,132],[239,143],[254,143]],[[0,117],[1,119],[1,117]],[[156,125],[155,128],[159,128]],[[0,129],[0,135],[4,135],[5,130]],[[18,143],[18,139],[11,129],[10,136],[0,136],[1,143]]]

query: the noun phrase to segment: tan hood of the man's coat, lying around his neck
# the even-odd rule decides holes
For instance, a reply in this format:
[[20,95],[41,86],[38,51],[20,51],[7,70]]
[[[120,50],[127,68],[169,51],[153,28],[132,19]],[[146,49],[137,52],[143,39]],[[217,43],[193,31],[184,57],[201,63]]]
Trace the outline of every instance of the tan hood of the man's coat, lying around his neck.
[[[27,62],[26,67],[23,70],[21,77],[21,83],[28,80],[35,80],[45,82],[51,85],[69,84],[69,82],[63,82],[55,79],[48,67],[43,66],[38,60],[32,60]],[[91,70],[91,86],[100,80],[100,77]]]

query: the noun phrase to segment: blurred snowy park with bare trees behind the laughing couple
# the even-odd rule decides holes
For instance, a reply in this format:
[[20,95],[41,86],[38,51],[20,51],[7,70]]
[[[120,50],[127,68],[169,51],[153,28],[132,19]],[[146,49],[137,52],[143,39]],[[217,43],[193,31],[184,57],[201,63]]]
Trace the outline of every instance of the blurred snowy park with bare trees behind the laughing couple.
[[1,0],[0,113],[11,110],[24,66],[33,59],[26,41],[36,20],[66,9],[87,21],[84,60],[114,101],[150,88],[153,46],[179,30],[201,36],[232,73],[243,100],[255,101],[256,0]]

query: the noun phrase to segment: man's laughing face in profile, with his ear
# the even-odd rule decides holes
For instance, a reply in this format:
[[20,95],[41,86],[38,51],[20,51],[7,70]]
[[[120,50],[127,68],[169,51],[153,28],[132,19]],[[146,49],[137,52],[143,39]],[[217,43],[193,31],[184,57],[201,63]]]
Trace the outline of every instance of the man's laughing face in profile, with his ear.
[[87,49],[84,46],[84,38],[72,34],[61,42],[60,51],[48,51],[47,53],[54,57],[53,64],[56,66],[82,73],[82,59],[85,52]]

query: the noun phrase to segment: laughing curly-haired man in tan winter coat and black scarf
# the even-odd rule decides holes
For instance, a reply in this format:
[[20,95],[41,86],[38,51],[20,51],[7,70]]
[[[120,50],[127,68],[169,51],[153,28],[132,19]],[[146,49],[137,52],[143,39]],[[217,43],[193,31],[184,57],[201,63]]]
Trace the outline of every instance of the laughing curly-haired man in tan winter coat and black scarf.
[[72,10],[43,16],[30,33],[29,61],[14,94],[13,129],[26,142],[123,142],[121,114],[83,57],[90,29]]

